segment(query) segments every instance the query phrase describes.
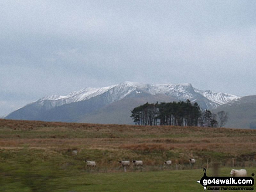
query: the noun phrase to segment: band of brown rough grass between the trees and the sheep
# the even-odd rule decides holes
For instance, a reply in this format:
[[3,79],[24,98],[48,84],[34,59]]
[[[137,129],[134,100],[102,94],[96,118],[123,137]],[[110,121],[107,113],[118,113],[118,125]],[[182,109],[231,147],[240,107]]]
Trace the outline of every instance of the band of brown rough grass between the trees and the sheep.
[[201,161],[223,158],[225,162],[227,157],[255,157],[256,130],[0,119],[0,149],[24,146],[51,152],[99,150],[101,157],[108,151],[111,153],[106,160],[115,162],[136,157],[147,157],[149,164],[166,158],[186,162],[191,157]]

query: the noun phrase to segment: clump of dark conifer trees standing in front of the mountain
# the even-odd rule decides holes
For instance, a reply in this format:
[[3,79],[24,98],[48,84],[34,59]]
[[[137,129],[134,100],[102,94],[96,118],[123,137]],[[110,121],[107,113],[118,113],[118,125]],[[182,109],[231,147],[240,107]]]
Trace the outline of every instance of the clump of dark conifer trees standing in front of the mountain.
[[[134,108],[131,113],[130,117],[136,125],[218,126],[216,114],[209,110],[201,111],[196,102],[192,104],[189,100],[146,103]],[[223,122],[220,124],[223,125]]]

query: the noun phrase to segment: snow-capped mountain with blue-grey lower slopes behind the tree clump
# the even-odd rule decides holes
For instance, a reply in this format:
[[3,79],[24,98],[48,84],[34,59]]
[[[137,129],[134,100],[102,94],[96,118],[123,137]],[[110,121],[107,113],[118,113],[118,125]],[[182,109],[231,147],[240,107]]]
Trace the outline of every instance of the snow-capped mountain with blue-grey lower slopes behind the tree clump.
[[[84,88],[66,96],[47,96],[7,115],[6,118],[43,120],[43,121],[79,121],[80,117],[100,110],[109,104],[125,101],[127,98],[140,98],[140,102],[156,101],[197,102],[202,109],[213,109],[219,105],[235,101],[240,97],[213,91],[201,91],[191,84],[140,84],[124,82],[104,88]],[[143,98],[143,99],[142,99]],[[135,102],[136,103],[136,102]],[[130,112],[130,105],[127,109]],[[130,117],[128,117],[130,118]]]

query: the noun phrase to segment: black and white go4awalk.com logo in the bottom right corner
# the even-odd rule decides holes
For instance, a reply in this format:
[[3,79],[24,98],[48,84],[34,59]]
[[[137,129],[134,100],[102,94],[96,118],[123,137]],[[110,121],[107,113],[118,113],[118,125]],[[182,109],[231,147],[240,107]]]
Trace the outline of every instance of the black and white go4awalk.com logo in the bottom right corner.
[[197,182],[206,190],[254,190],[254,179],[252,177],[208,177],[204,168],[204,176]]

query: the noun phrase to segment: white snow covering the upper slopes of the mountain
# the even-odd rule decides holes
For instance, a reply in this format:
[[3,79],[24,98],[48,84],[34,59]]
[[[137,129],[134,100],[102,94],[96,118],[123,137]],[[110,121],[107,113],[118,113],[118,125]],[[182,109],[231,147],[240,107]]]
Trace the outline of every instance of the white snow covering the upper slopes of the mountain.
[[126,97],[133,91],[136,91],[137,94],[141,92],[146,92],[149,94],[165,94],[177,100],[185,101],[187,99],[191,101],[196,101],[197,99],[205,98],[208,99],[213,104],[210,104],[214,107],[228,103],[230,101],[236,100],[240,97],[218,93],[213,91],[201,91],[193,88],[191,84],[139,84],[135,82],[124,82],[121,84],[112,85],[104,88],[84,88],[80,91],[74,91],[66,96],[48,96],[39,99],[35,103],[38,107],[44,108],[54,108],[61,106],[63,104],[70,104],[78,101],[85,101],[90,98],[101,96],[104,99],[107,99],[109,103],[114,101],[119,101],[122,98]]

